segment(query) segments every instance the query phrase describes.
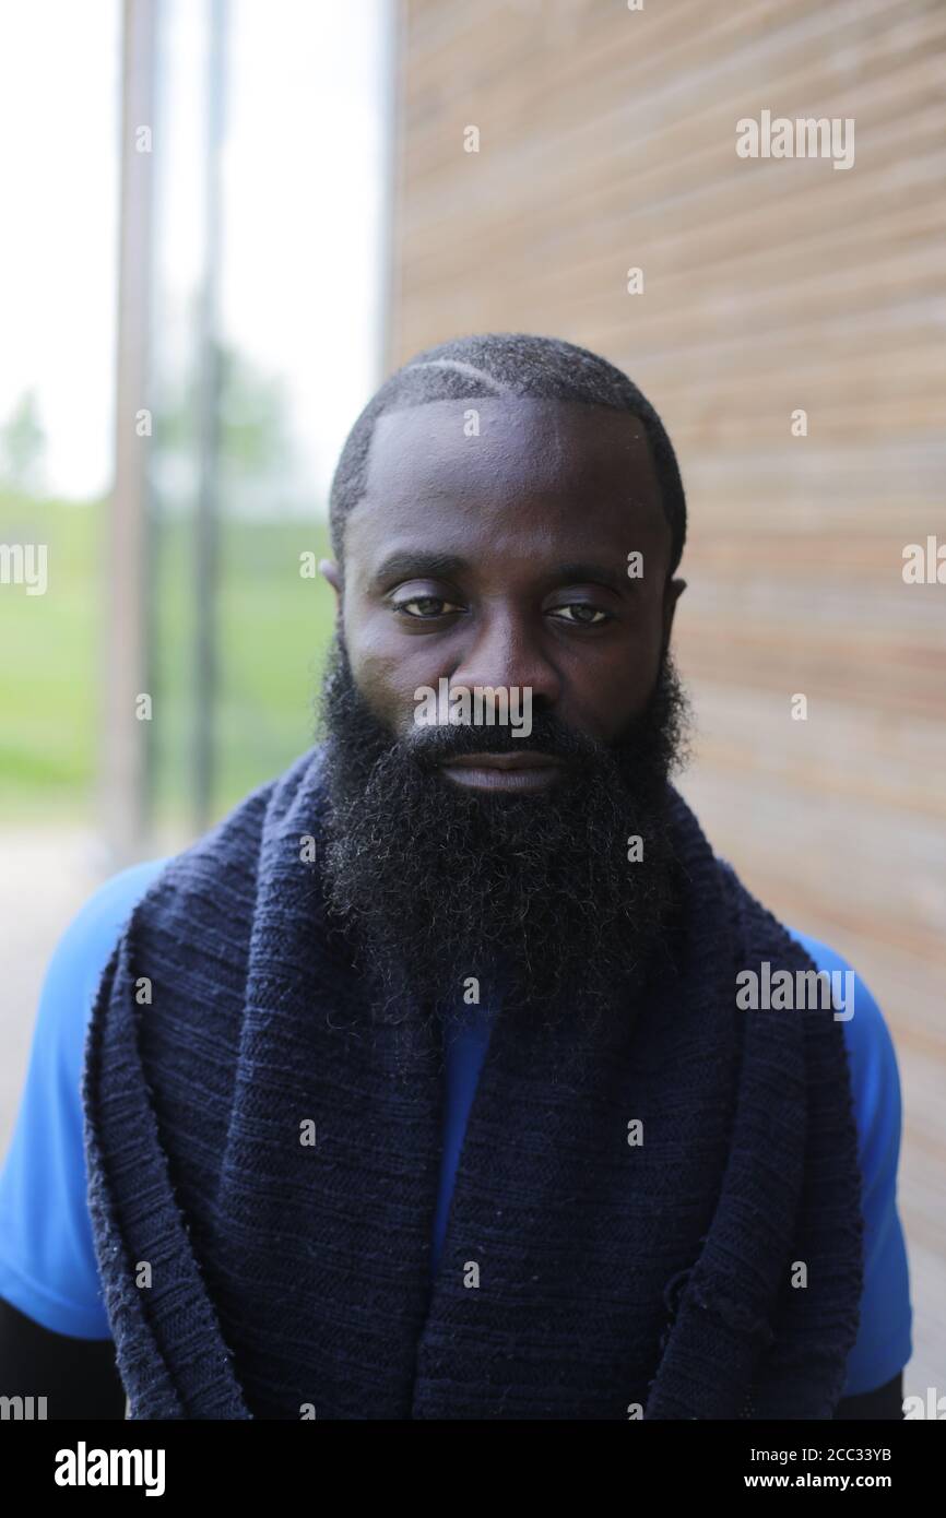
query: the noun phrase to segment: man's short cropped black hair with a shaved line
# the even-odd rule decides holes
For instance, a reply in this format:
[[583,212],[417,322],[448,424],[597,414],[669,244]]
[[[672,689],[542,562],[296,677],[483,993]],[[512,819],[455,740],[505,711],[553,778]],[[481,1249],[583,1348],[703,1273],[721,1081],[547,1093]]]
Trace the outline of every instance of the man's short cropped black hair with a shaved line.
[[664,515],[670,524],[670,574],[680,563],[686,537],[686,498],[673,445],[650,401],[626,373],[588,348],[531,332],[475,332],[415,354],[372,396],[345,440],[330,490],[333,553],[343,566],[348,513],[367,487],[367,449],[377,419],[427,401],[475,399],[487,395],[577,401],[629,411],[644,427]]

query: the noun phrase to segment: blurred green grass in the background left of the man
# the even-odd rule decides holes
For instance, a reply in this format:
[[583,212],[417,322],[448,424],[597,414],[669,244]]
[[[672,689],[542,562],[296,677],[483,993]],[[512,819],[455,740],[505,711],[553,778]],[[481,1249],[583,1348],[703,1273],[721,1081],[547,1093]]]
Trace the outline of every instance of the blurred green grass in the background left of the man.
[[[90,820],[103,709],[105,505],[0,498],[0,542],[49,545],[49,589],[0,584],[0,815]],[[187,821],[194,726],[190,525],[164,525],[152,563],[152,741],[156,820]],[[313,741],[313,697],[334,598],[302,578],[328,554],[322,522],[225,522],[216,604],[214,817]]]

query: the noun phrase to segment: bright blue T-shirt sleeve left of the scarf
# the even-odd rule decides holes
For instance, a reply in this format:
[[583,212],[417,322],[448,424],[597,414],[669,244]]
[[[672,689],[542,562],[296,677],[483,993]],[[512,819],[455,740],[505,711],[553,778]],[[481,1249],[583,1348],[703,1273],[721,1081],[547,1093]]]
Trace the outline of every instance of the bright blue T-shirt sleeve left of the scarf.
[[102,970],[164,861],[108,880],[50,959],[26,1085],[0,1172],[0,1296],[44,1328],[108,1339],[82,1142],[85,1032]]

